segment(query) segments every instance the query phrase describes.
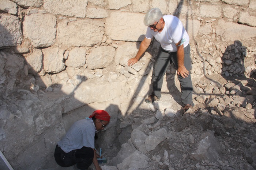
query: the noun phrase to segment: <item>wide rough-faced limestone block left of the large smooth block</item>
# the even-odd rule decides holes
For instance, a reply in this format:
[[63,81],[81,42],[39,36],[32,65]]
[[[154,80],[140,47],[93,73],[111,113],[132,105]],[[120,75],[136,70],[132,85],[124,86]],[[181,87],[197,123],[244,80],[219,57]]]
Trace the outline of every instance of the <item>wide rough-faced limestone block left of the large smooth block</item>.
[[101,42],[104,23],[98,20],[81,20],[69,22],[60,20],[57,26],[58,43],[65,46],[91,46]]

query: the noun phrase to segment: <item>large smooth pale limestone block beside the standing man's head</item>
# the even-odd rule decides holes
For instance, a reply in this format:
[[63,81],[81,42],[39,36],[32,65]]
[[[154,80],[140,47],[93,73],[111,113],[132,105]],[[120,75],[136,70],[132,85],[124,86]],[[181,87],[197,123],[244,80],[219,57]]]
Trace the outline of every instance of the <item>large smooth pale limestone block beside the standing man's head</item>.
[[[112,12],[106,19],[106,35],[112,40],[142,41],[144,36],[141,35],[146,33],[147,28],[143,23],[143,19],[144,15],[140,13]],[[116,23],[118,23],[118,27]]]

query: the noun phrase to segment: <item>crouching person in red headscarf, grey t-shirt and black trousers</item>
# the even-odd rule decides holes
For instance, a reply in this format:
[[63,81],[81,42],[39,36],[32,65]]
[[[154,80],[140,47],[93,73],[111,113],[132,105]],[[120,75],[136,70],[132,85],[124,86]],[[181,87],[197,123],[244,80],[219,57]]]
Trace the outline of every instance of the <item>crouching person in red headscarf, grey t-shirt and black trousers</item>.
[[91,163],[101,170],[94,147],[94,136],[109,124],[110,116],[105,110],[96,110],[89,118],[78,120],[56,146],[55,161],[61,167],[76,164],[77,169],[88,169]]

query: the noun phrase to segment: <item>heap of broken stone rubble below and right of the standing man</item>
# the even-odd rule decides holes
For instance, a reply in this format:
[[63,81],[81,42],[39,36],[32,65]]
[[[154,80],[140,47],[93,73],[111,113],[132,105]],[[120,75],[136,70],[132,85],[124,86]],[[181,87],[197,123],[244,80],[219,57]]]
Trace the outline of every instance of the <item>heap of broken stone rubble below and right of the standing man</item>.
[[116,155],[106,151],[110,161],[102,170],[255,169],[256,80],[223,82],[219,88],[203,80],[195,89],[208,95],[194,94],[197,102],[185,113],[181,107],[171,109],[174,102],[160,100],[143,103],[121,119],[128,142]]

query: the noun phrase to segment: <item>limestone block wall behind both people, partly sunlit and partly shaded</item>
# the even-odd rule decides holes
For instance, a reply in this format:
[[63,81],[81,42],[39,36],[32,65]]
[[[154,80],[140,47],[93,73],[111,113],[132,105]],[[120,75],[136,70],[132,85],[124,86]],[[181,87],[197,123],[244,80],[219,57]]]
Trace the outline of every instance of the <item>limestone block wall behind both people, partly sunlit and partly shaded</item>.
[[112,116],[111,146],[118,119],[150,93],[159,43],[127,60],[153,7],[188,31],[194,80],[255,75],[254,0],[1,0],[0,149],[14,169],[57,169],[56,142],[96,109]]

